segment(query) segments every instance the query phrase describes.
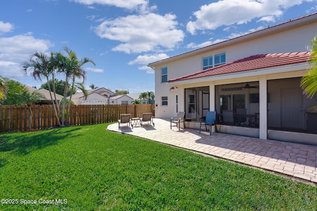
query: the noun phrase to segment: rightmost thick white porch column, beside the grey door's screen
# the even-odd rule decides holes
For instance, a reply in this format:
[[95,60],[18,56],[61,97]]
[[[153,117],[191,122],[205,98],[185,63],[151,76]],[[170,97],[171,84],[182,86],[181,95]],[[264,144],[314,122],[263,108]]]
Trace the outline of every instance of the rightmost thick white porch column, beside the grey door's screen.
[[260,76],[260,138],[267,139],[267,80]]

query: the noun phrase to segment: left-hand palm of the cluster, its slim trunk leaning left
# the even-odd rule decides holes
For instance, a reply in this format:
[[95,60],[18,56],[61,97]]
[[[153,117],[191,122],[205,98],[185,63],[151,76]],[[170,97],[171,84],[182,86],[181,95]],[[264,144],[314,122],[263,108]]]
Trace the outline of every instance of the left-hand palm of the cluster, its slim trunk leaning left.
[[[59,121],[59,107],[58,104],[56,103],[56,93],[55,93],[55,87],[53,84],[53,93],[54,93],[54,99],[52,96],[52,90],[50,86],[50,77],[54,79],[55,75],[55,70],[54,70],[54,65],[52,63],[53,60],[53,52],[51,52],[51,57],[49,58],[46,53],[42,52],[35,52],[30,56],[30,59],[22,63],[22,71],[27,74],[27,72],[31,72],[31,76],[35,80],[42,81],[42,78],[46,78],[47,84],[49,87],[49,92],[52,100],[52,104],[54,107],[54,112],[55,116],[57,119],[57,123],[59,126],[61,126],[60,121]],[[54,80],[53,80],[54,81]],[[57,106],[57,109],[56,109]]]

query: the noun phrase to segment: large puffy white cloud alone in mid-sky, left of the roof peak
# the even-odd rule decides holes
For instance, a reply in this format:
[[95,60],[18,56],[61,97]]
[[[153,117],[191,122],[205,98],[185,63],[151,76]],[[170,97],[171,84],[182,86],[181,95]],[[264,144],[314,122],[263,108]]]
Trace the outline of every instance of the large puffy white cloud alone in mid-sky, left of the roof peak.
[[106,20],[95,28],[95,32],[101,38],[123,42],[113,47],[113,51],[140,53],[172,49],[184,39],[184,32],[177,29],[175,19],[173,14],[129,15]]

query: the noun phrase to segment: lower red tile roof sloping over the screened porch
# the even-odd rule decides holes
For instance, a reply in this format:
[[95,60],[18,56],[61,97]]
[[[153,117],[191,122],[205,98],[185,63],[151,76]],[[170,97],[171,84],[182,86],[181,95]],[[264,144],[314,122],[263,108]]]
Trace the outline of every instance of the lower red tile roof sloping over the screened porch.
[[194,74],[183,76],[167,82],[177,82],[203,77],[212,77],[223,74],[232,74],[250,70],[272,68],[284,65],[298,64],[309,61],[310,52],[258,54],[239,59],[218,67],[203,70]]

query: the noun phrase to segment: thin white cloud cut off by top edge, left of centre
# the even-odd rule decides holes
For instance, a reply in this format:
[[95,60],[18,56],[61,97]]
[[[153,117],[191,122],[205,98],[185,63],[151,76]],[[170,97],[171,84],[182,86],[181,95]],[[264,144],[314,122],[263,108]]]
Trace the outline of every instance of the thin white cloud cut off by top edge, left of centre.
[[82,3],[86,5],[91,4],[103,4],[111,5],[126,9],[136,9],[138,6],[148,5],[148,0],[70,0],[77,3]]

